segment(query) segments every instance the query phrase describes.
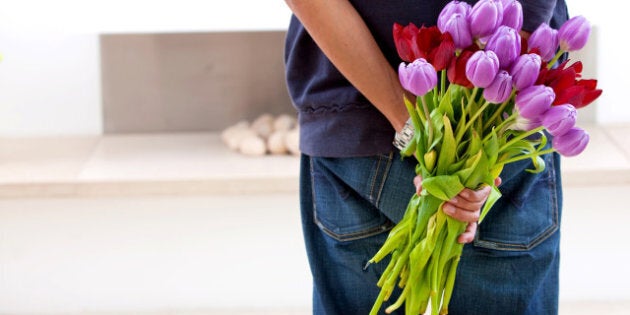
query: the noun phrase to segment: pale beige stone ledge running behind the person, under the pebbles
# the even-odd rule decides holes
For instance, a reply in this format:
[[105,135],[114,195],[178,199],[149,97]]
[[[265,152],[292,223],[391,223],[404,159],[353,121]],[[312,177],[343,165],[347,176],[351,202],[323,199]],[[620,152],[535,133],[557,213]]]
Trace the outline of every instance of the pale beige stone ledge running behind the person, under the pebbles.
[[[565,186],[630,184],[630,125],[587,125]],[[0,138],[0,198],[297,192],[299,158],[249,157],[217,133]]]

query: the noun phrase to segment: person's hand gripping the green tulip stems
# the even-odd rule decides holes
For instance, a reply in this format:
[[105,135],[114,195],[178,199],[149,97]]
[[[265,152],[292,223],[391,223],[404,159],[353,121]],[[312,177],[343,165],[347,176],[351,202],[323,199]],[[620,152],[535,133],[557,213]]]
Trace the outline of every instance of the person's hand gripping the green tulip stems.
[[[416,193],[419,195],[422,192],[422,177],[416,176],[413,179],[413,183],[416,186]],[[494,180],[494,184],[497,186],[501,185],[501,178],[497,177]],[[484,186],[479,190],[465,188],[455,198],[444,204],[442,208],[444,213],[453,219],[468,222],[464,233],[457,238],[459,243],[470,243],[475,238],[477,221],[481,214],[481,208],[490,195],[490,189],[490,186]]]

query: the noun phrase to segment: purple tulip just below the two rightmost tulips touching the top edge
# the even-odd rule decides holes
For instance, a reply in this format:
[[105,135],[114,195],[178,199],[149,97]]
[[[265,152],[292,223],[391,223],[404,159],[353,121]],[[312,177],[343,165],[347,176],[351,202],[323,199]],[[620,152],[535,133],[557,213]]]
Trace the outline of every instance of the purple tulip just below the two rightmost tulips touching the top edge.
[[521,36],[515,29],[501,25],[488,40],[486,50],[492,50],[497,54],[501,69],[509,69],[512,62],[521,54]]

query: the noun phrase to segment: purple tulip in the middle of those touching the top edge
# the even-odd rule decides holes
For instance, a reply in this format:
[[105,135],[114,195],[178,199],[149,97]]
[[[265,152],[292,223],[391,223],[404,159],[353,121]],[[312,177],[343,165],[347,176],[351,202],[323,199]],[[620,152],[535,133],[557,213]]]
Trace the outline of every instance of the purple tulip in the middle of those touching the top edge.
[[481,0],[470,10],[469,20],[474,37],[489,36],[503,22],[503,5],[495,0]]

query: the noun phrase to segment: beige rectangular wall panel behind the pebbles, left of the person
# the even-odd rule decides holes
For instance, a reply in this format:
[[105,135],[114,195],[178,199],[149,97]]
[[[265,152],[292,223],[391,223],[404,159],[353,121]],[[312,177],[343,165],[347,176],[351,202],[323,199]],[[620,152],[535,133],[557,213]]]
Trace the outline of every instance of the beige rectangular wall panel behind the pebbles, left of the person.
[[294,114],[283,31],[100,36],[105,133],[219,131]]

